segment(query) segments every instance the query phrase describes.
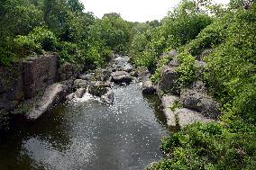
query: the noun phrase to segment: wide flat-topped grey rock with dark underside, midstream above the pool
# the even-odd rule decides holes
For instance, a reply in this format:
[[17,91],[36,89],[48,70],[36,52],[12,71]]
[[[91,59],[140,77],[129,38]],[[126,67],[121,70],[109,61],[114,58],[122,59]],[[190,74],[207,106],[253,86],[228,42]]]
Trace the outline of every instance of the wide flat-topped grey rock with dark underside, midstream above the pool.
[[116,84],[122,84],[122,83],[129,84],[133,80],[133,77],[125,71],[115,71],[111,74],[111,76],[112,76],[111,81],[113,81]]

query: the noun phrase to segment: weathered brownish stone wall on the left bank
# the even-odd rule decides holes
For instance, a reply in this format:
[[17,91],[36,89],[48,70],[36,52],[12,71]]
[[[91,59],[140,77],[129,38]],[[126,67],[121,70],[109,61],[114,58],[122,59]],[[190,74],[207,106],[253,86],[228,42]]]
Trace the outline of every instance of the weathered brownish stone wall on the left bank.
[[28,58],[12,67],[0,66],[0,109],[12,110],[57,81],[58,55]]

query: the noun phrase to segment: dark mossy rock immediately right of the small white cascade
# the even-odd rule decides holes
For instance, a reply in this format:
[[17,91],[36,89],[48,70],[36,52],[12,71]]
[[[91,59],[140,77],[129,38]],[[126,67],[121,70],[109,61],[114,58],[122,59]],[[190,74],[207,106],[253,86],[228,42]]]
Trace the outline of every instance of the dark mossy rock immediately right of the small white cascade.
[[92,85],[89,85],[88,92],[89,94],[100,97],[107,92],[107,87],[109,86],[106,85],[105,82],[93,82]]

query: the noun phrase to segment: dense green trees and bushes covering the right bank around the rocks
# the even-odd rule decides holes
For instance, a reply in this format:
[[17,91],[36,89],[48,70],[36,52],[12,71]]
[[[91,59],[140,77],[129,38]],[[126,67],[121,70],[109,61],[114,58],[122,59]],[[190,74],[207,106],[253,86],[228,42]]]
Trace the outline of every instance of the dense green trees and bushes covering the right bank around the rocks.
[[[223,112],[221,123],[195,123],[162,139],[166,158],[149,169],[255,168],[255,32],[253,1],[233,0],[224,8],[184,0],[160,26],[143,25],[134,36],[133,61],[151,69],[153,83],[160,80],[162,68],[177,59],[178,89],[203,80]],[[178,51],[177,58],[168,55],[170,49]],[[195,61],[203,51],[208,51],[202,58],[206,67],[198,74]]]

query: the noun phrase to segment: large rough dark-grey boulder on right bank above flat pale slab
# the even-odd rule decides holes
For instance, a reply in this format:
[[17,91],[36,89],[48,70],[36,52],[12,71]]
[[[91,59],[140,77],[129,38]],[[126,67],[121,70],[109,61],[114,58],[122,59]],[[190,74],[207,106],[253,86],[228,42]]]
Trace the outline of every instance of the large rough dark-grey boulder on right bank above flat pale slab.
[[206,94],[206,88],[202,82],[195,82],[189,88],[182,89],[180,99],[183,106],[201,112],[204,116],[217,119],[220,115],[219,104]]

